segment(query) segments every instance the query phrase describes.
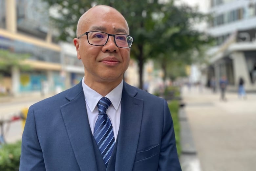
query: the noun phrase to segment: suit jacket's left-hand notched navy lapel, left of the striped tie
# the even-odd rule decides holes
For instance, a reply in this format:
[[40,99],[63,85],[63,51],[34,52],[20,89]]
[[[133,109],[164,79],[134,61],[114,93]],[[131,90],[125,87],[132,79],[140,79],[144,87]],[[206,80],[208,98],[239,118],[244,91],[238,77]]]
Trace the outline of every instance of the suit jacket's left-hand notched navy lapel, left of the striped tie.
[[97,170],[81,82],[71,89],[66,98],[70,102],[60,110],[80,170]]

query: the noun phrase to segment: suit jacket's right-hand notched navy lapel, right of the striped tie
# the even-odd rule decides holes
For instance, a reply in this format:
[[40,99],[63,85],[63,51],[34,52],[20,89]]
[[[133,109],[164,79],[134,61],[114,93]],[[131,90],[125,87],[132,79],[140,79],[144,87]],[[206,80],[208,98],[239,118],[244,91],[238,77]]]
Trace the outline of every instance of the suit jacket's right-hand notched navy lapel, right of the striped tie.
[[132,170],[137,151],[143,112],[143,100],[124,82],[118,131],[116,170]]

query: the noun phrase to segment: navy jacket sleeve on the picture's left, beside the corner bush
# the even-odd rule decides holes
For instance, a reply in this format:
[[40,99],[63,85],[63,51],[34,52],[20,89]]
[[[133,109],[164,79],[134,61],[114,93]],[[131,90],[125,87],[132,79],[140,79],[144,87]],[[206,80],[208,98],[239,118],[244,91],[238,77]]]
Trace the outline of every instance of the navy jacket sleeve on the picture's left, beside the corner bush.
[[22,135],[19,171],[44,171],[43,152],[37,138],[33,106],[29,108]]

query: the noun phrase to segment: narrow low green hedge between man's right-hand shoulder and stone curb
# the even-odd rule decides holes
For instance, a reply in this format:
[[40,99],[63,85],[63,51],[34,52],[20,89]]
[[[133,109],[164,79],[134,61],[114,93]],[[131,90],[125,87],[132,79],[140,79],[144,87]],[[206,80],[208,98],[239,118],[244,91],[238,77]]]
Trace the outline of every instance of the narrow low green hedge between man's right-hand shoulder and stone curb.
[[171,112],[172,120],[173,120],[173,127],[174,127],[174,132],[175,132],[175,138],[176,138],[176,147],[178,151],[178,155],[180,156],[181,154],[181,138],[180,138],[180,122],[179,122],[179,101],[177,100],[172,100],[169,101],[168,107]]

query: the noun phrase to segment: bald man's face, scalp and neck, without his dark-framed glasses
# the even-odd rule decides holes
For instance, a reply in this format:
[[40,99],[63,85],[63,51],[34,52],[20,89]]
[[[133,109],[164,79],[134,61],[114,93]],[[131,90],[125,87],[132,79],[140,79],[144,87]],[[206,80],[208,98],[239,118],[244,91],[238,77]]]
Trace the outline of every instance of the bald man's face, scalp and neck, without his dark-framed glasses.
[[[83,16],[81,34],[101,31],[108,34],[129,34],[123,16],[111,8],[94,8]],[[79,33],[80,34],[80,33]],[[79,36],[79,35],[78,35]],[[110,36],[106,45],[94,46],[88,43],[87,36],[74,39],[77,58],[81,59],[85,71],[85,83],[120,83],[130,61],[130,48],[118,48],[114,37]]]

